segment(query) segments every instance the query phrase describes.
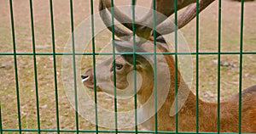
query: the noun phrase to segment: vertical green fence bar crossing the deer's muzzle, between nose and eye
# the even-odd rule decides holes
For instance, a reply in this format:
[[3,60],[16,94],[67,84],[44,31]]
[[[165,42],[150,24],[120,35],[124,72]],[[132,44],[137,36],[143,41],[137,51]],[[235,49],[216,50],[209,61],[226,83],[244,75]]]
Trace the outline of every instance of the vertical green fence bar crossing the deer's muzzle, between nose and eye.
[[96,133],[99,131],[98,127],[98,109],[97,109],[97,92],[96,92],[96,55],[95,55],[95,35],[94,35],[94,12],[93,0],[90,0],[90,16],[91,16],[91,37],[92,37],[92,62],[93,62],[93,89],[94,89],[94,103],[95,103],[95,122]]

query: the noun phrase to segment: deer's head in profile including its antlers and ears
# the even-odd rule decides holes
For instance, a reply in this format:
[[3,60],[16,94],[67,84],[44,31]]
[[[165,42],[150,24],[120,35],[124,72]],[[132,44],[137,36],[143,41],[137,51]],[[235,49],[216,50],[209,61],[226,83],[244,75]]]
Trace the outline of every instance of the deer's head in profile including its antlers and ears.
[[[214,0],[201,0],[199,3],[199,10],[203,10],[204,8],[207,7],[210,3],[212,3]],[[192,5],[189,5],[190,3],[193,3]],[[180,18],[178,18],[178,24],[177,26],[179,28],[183,27],[183,25],[186,25],[189,23],[190,20],[195,18],[195,0],[188,0],[188,1],[183,1],[183,0],[178,0],[177,1],[177,9],[184,8],[186,6],[189,7],[181,14]],[[170,8],[171,7],[171,8]],[[174,1],[173,0],[156,0],[156,11],[159,11],[161,14],[164,15],[171,15],[174,13]],[[111,25],[111,19],[105,10],[108,8],[111,8],[111,3],[110,0],[101,0],[99,3],[99,10],[100,10],[100,15],[102,17],[102,20],[105,25],[107,25],[108,30],[112,31],[112,27],[109,26]],[[153,5],[152,5],[153,8]],[[114,17],[116,20],[119,21],[125,21],[128,23],[122,24],[125,25],[128,29],[132,30],[132,22],[131,18],[129,18],[127,15],[121,13],[118,8],[114,8]],[[152,37],[152,25],[153,25],[153,11],[149,11],[148,14],[143,16],[143,18],[135,23],[136,25],[136,34],[138,38],[143,38],[144,41],[146,42],[136,42],[136,51],[137,53],[139,52],[148,52],[146,51],[143,47],[153,47],[154,43],[153,37]],[[158,29],[162,30],[165,29],[165,34],[171,33],[174,31],[174,25],[167,23],[164,21],[164,17],[161,17],[161,15],[156,16],[156,25],[159,27]],[[146,25],[140,25],[140,24],[145,24]],[[169,25],[167,28],[166,26]],[[118,25],[114,25],[114,34],[115,36],[118,36],[122,40],[115,40],[114,45],[116,49],[121,52],[121,53],[127,53],[127,52],[133,52],[133,45],[131,43],[131,38],[133,37],[132,34],[128,31],[125,31],[123,28],[119,27]],[[163,38],[160,37],[161,35],[158,36],[156,39],[157,42],[157,47],[160,48],[161,52],[168,52],[166,48],[166,42],[163,40]],[[146,39],[146,40],[145,40]],[[151,41],[150,41],[151,40]],[[148,48],[150,49],[150,48]],[[153,50],[151,48],[151,50]],[[142,77],[141,84],[142,84],[142,89],[148,88],[150,84],[148,83],[153,83],[154,79],[154,71],[152,69],[152,66],[150,64],[153,63],[152,58],[150,58],[149,55],[135,55],[137,58],[136,62],[136,67],[133,67],[133,55],[132,54],[122,54],[116,57],[115,59],[115,64],[113,64],[113,59],[108,59],[102,64],[97,65],[97,71],[96,71],[96,77],[97,77],[97,91],[104,91],[113,94],[113,70],[116,72],[116,87],[118,89],[127,89],[129,87],[129,82],[131,80],[127,80],[127,75],[131,75],[132,70],[136,68],[136,70],[141,74],[140,76]],[[171,56],[172,57],[172,56]],[[171,64],[173,66],[174,62],[173,59],[171,60]],[[159,60],[161,61],[161,60]],[[169,63],[170,64],[170,63]],[[100,68],[100,69],[99,69]],[[166,74],[165,72],[163,72]],[[104,74],[104,75],[102,75]],[[93,71],[92,69],[86,70],[84,75],[81,75],[82,80],[84,82],[85,87],[94,87],[94,82],[93,82]],[[131,86],[131,84],[130,84]],[[151,85],[152,86],[152,85]],[[107,90],[108,89],[108,90]]]

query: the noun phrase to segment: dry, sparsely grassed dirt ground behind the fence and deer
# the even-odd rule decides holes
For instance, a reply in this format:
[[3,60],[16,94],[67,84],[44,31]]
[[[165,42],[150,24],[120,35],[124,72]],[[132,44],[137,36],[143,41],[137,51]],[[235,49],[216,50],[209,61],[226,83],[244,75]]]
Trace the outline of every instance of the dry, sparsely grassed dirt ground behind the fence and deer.
[[[49,1],[33,0],[33,19],[35,30],[35,44],[37,53],[52,53],[52,35],[49,14]],[[128,0],[115,2],[118,5],[129,4]],[[149,7],[148,2],[139,1],[139,5]],[[62,53],[71,36],[70,3],[68,0],[54,0],[55,51]],[[11,32],[9,1],[0,0],[0,53],[13,53],[13,39]],[[32,53],[31,15],[29,1],[15,0],[13,2],[15,18],[15,45],[17,53]],[[256,2],[245,3],[243,51],[256,52]],[[231,0],[222,2],[221,20],[221,51],[239,52],[241,34],[241,3]],[[94,3],[97,12],[97,1]],[[90,17],[90,1],[75,0],[73,2],[74,25],[79,25]],[[191,52],[195,52],[195,20],[180,30],[186,38]],[[108,31],[105,31],[108,32]],[[104,41],[109,42],[108,36]],[[218,52],[218,2],[212,3],[200,14],[200,52]],[[192,56],[195,64],[195,56]],[[55,84],[53,73],[53,56],[38,55],[38,98],[41,129],[56,128]],[[75,110],[69,103],[61,78],[62,56],[56,56],[56,70],[58,81],[58,108],[60,128],[73,130],[76,128]],[[217,71],[218,55],[200,55],[199,60],[199,90],[200,98],[207,102],[217,100]],[[221,99],[230,98],[239,87],[239,55],[221,55],[221,61],[228,63],[221,67]],[[21,128],[38,129],[36,91],[34,79],[34,64],[32,55],[18,55],[18,79],[20,90]],[[90,63],[91,64],[91,63]],[[256,55],[244,54],[242,66],[243,89],[256,85]],[[84,67],[81,67],[84,69]],[[194,65],[195,69],[195,65]],[[194,70],[195,71],[195,70]],[[0,102],[3,129],[17,129],[17,96],[15,87],[15,66],[13,55],[0,55]],[[80,74],[79,74],[80,75]],[[195,78],[195,77],[194,77]],[[195,79],[192,86],[195,91]],[[105,99],[104,94],[98,95]],[[111,101],[110,101],[111,102]],[[122,102],[119,103],[121,105]],[[113,105],[109,106],[113,108]],[[79,116],[80,130],[95,130],[95,126]],[[100,130],[106,128],[100,127]],[[133,130],[133,129],[130,129]],[[32,133],[32,132],[31,132]]]

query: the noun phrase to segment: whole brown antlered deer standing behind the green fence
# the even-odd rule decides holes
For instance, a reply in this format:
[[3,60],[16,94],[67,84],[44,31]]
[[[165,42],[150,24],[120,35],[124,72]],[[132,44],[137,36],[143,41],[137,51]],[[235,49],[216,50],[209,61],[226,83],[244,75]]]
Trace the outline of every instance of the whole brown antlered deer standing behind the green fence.
[[[166,0],[167,1],[167,0]],[[166,1],[156,0],[158,11],[161,13],[164,13],[166,15],[172,14],[172,11],[166,12],[166,7],[164,6],[164,3]],[[199,6],[201,7],[201,10],[203,8],[206,8],[207,5],[210,4],[210,1],[212,0],[201,0],[201,3]],[[168,2],[171,2],[168,1]],[[177,1],[178,3],[184,3],[183,5],[180,5],[179,8],[183,8],[186,5],[189,4],[189,2],[193,1]],[[192,8],[195,5],[192,5]],[[191,5],[189,6],[188,10],[184,11],[184,15],[182,17],[185,18],[178,18],[177,26],[182,27],[182,25],[186,25],[189,23],[189,20],[194,17],[195,10],[191,9]],[[133,52],[133,43],[131,42],[131,32],[126,31],[123,27],[120,27],[119,25],[111,25],[111,19],[108,15],[106,8],[109,8],[109,2],[108,0],[101,0],[99,3],[99,10],[100,15],[102,17],[102,20],[105,25],[108,26],[108,30],[112,31],[112,28],[114,26],[114,34],[115,36],[118,36],[119,39],[114,40],[114,46],[116,50],[119,53],[125,53],[125,52]],[[166,8],[166,9],[165,9]],[[165,12],[164,12],[165,11]],[[193,13],[191,13],[193,11]],[[124,14],[119,12],[115,9],[114,11],[115,19],[121,19]],[[148,13],[151,14],[151,13]],[[146,16],[148,15],[146,14]],[[123,18],[129,19],[127,16],[124,16]],[[143,18],[144,19],[144,18]],[[146,18],[145,18],[146,19]],[[129,22],[129,21],[128,21]],[[149,22],[147,20],[148,25],[152,24],[152,22]],[[140,23],[138,23],[140,24]],[[131,29],[131,24],[122,24],[125,25],[128,29]],[[156,44],[156,47],[160,50],[162,53],[170,52],[168,47],[166,47],[166,41],[164,38],[162,38],[162,35],[158,35],[155,38],[152,36],[152,29],[149,28],[148,25],[136,25],[136,36],[143,36],[146,37],[147,41],[144,42],[136,42],[135,48],[137,49],[137,52],[147,52],[147,49],[145,47],[147,46],[154,46],[154,42]],[[157,26],[166,26],[167,24],[157,24]],[[170,25],[170,24],[169,24]],[[180,28],[179,27],[179,28]],[[142,31],[142,29],[148,29],[148,31]],[[142,33],[139,33],[142,32]],[[166,32],[172,32],[171,29]],[[155,41],[154,41],[155,40]],[[147,58],[145,56],[142,56],[140,54],[135,53],[136,56],[136,62],[133,60],[133,54],[121,54],[116,55],[114,61],[115,66],[113,66],[113,59],[108,59],[102,64],[97,64],[96,66],[96,74],[93,74],[93,69],[89,68],[85,70],[84,74],[81,75],[82,82],[84,84],[84,87],[88,87],[90,89],[94,89],[94,75],[97,77],[96,81],[96,92],[108,92],[113,93],[113,89],[107,89],[106,83],[109,82],[113,83],[113,70],[115,70],[116,75],[116,87],[119,89],[125,89],[125,87],[128,87],[128,79],[133,79],[127,77],[129,72],[133,71],[134,69],[137,70],[139,74],[142,76],[142,83],[141,87],[137,92],[137,99],[138,102],[143,104],[146,103],[148,98],[150,98],[150,95],[154,92],[154,70],[152,66],[150,65],[150,58]],[[166,87],[168,88],[166,93],[166,99],[160,106],[160,108],[157,110],[157,129],[159,131],[196,131],[196,96],[193,92],[190,91],[188,85],[183,80],[183,75],[181,75],[180,71],[175,69],[175,60],[173,59],[172,55],[165,54],[164,59],[167,63],[167,69],[168,73],[166,72],[160,72],[160,75],[168,75],[170,77],[171,83],[170,86]],[[135,64],[135,66],[133,65]],[[102,73],[104,73],[102,75]],[[175,75],[177,73],[177,75]],[[177,84],[177,85],[176,85]],[[187,99],[185,100],[185,103],[183,103],[182,108],[177,112],[176,115],[172,116],[170,115],[170,110],[172,107],[172,103],[175,103],[175,87],[177,87],[178,92],[189,92],[189,95]],[[160,92],[160,90],[157,88],[157,91]],[[180,96],[182,98],[182,96]],[[248,87],[247,89],[243,90],[241,92],[241,132],[256,132],[256,86]],[[232,96],[231,98],[224,100],[219,103],[220,109],[220,117],[219,117],[219,131],[221,132],[238,132],[239,131],[239,94]],[[153,109],[154,106],[151,107]],[[143,112],[138,114],[138,116],[143,116],[144,114],[148,114],[147,112],[151,110],[150,108],[143,109]],[[199,131],[212,131],[216,132],[218,131],[218,104],[217,103],[207,103],[202,101],[200,98],[198,98],[198,130]],[[176,118],[177,116],[178,122],[177,122],[177,129],[176,130]],[[146,127],[148,130],[154,130],[155,129],[155,122],[154,122],[154,116],[150,117],[148,120],[144,121],[142,124],[144,127]]]

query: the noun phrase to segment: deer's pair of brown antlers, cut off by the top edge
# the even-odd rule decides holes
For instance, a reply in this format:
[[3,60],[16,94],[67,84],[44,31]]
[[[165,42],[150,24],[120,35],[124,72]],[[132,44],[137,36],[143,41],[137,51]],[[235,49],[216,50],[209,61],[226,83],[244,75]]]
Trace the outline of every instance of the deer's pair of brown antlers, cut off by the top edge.
[[[164,14],[166,16],[172,15],[174,11],[174,0],[155,0],[155,10],[161,14]],[[211,4],[214,0],[201,0],[199,3],[199,11],[201,12],[204,8],[207,8],[209,4]],[[177,18],[177,27],[182,28],[184,25],[187,25],[189,21],[193,20],[195,18],[196,14],[196,0],[177,0],[177,10],[187,7],[189,4],[194,3],[192,5],[189,5],[189,7],[181,14],[180,17]],[[104,7],[108,8],[110,11],[111,6],[111,0],[101,0],[101,4],[103,4]],[[171,7],[171,8],[170,8]],[[129,16],[119,11],[118,8],[115,8],[113,5],[113,14],[114,18],[118,20],[119,22],[126,22],[122,25],[125,25],[126,28],[130,29],[132,31],[132,20]],[[151,8],[154,8],[154,5],[152,3]],[[154,11],[150,10],[148,13],[143,16],[141,20],[135,21],[135,29],[136,29],[136,35],[141,36],[143,38],[148,39],[150,36],[152,36],[152,28],[154,24]],[[163,17],[161,15],[157,15],[155,19],[155,25],[157,26],[157,30],[163,30],[164,33],[171,33],[175,29],[175,25],[169,23],[162,23],[164,20],[166,20],[166,16]],[[160,36],[158,34],[157,36]]]

